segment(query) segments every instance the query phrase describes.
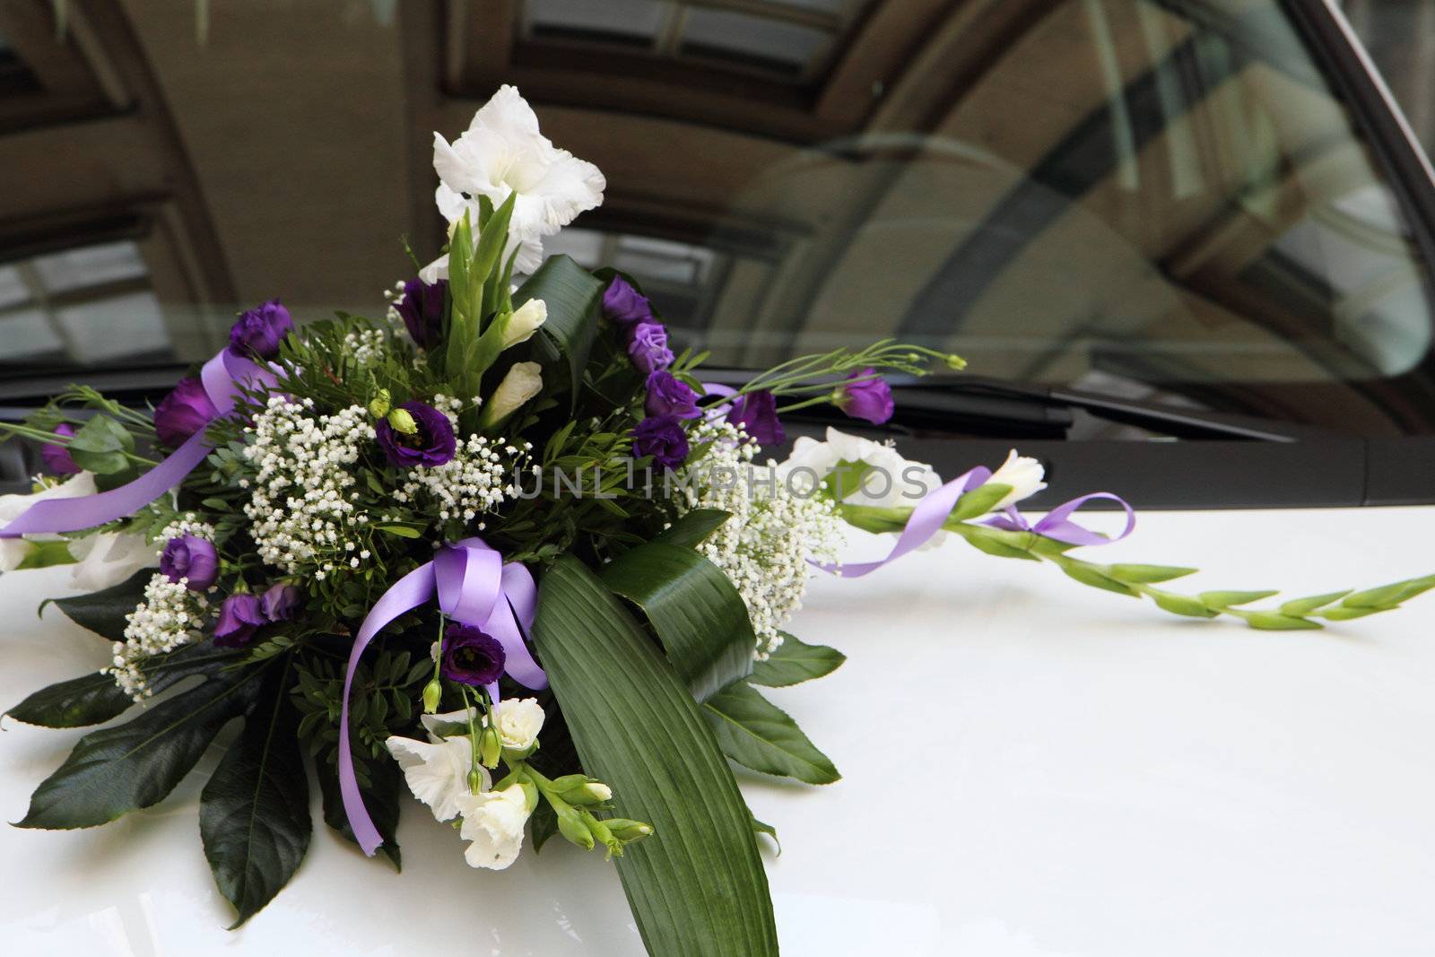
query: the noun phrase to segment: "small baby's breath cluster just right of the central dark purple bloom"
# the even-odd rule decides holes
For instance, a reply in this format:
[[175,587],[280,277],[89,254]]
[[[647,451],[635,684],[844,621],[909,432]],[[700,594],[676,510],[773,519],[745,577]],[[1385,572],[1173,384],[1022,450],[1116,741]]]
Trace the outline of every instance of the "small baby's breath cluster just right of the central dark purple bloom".
[[[512,482],[505,481],[512,473],[509,463],[531,449],[528,442],[515,446],[471,435],[458,443],[453,458],[443,465],[410,469],[408,479],[393,492],[393,499],[405,505],[420,505],[420,511],[439,521],[472,522],[514,495]],[[479,522],[475,528],[482,531],[484,524]]]

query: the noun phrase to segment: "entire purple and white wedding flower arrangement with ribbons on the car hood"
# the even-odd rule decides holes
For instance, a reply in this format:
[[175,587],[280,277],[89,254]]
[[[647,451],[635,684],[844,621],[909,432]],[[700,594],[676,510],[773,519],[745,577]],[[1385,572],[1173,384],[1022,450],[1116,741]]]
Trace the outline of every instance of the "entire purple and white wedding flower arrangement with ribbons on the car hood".
[[[7,426],[44,442],[53,475],[0,498],[0,568],[73,564],[89,593],[53,603],[113,641],[103,671],[9,713],[128,717],[82,737],[19,826],[151,806],[240,719],[199,798],[237,924],[304,857],[313,765],[324,822],[395,867],[409,791],[474,867],[554,835],[620,858],[654,954],[771,954],[758,834],[772,828],[729,762],[838,779],[766,692],[844,660],[785,631],[814,574],[867,574],[956,535],[1257,628],[1435,587],[1254,610],[1273,593],[1187,595],[1164,584],[1194,570],[1075,557],[1109,541],[1078,509],[1109,499],[1122,535],[1131,509],[1101,492],[1032,522],[1017,502],[1043,475],[1016,452],[947,482],[838,430],[763,459],[785,413],[827,403],[883,423],[885,374],[961,360],[880,341],[706,383],[637,281],[544,258],[606,184],[540,135],[515,89],[452,143],[436,136],[433,162],[448,251],[392,290],[386,317],[297,327],[264,303],[152,410],[76,386]],[[842,564],[854,527],[895,541]]]

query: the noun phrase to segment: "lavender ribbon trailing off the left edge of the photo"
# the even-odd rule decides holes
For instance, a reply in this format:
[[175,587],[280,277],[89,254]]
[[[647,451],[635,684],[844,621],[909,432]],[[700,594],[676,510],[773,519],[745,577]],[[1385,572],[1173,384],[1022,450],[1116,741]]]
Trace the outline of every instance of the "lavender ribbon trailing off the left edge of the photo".
[[[217,419],[234,410],[234,402],[240,396],[241,380],[258,383],[267,389],[278,385],[274,373],[268,369],[263,369],[228,350],[218,353],[210,362],[204,363],[204,369],[199,372],[199,382],[204,385],[204,392],[217,410]],[[210,445],[204,440],[204,429],[201,429],[133,482],[96,495],[36,502],[6,525],[4,529],[0,529],[0,538],[19,538],[20,535],[39,532],[75,532],[82,528],[93,528],[95,525],[112,522],[116,518],[133,515],[149,502],[179,485],[199,462],[204,462],[207,455],[210,455]]]

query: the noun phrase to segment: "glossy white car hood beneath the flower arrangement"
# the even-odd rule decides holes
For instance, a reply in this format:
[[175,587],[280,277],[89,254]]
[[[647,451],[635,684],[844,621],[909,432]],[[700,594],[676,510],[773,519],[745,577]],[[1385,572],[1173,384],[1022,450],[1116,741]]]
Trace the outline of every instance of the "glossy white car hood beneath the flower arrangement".
[[[1435,571],[1432,529],[1435,508],[1147,514],[1092,557],[1294,597]],[[854,558],[878,551],[860,538]],[[57,611],[34,617],[65,577],[0,578],[4,704],[105,661]],[[782,836],[765,857],[784,953],[1435,953],[1432,626],[1435,595],[1327,631],[1177,620],[960,541],[817,581],[792,628],[850,660],[772,699],[847,778],[742,776]],[[79,732],[4,727],[14,821]],[[555,841],[472,871],[416,803],[402,875],[319,825],[293,884],[225,931],[195,778],[105,828],[0,829],[4,953],[641,953],[601,857]]]

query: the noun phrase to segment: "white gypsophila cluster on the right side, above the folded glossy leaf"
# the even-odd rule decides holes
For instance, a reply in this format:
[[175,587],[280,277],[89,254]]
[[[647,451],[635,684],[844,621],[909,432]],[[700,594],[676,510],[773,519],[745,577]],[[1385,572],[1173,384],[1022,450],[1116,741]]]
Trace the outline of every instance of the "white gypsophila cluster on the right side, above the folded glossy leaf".
[[759,448],[740,429],[702,423],[690,440],[709,442],[684,488],[686,508],[720,508],[730,514],[697,550],[732,580],[748,605],[758,636],[756,657],[782,644],[782,628],[802,607],[812,565],[835,561],[842,547],[842,521],[835,506],[811,489],[789,488],[775,476],[775,463],[755,466]]

